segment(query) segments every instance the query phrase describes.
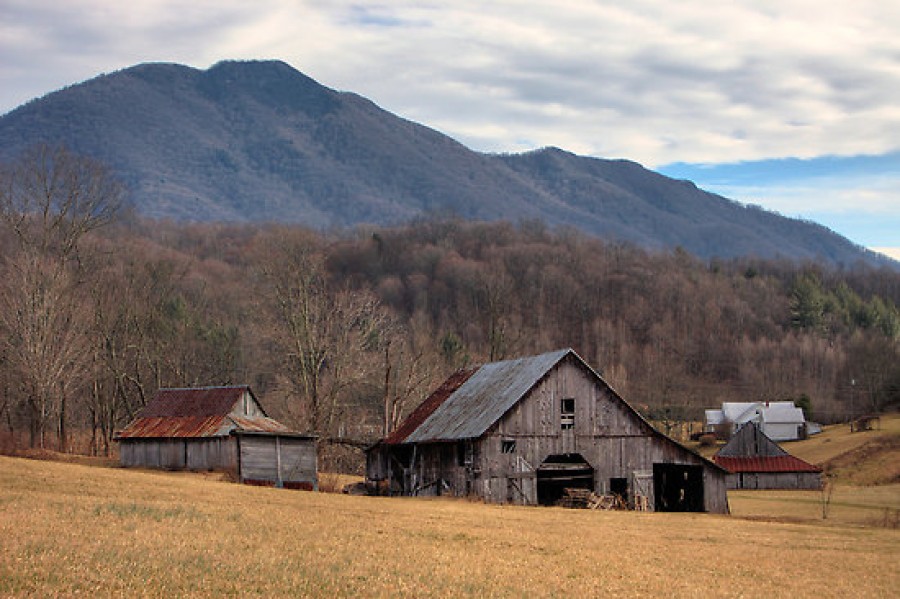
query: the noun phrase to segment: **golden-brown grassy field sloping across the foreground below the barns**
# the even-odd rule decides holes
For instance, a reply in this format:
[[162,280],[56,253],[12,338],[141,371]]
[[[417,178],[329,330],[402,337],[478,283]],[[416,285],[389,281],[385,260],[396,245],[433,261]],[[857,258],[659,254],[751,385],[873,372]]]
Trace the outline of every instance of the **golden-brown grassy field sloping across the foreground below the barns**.
[[0,457],[0,595],[890,596],[896,530],[349,497]]

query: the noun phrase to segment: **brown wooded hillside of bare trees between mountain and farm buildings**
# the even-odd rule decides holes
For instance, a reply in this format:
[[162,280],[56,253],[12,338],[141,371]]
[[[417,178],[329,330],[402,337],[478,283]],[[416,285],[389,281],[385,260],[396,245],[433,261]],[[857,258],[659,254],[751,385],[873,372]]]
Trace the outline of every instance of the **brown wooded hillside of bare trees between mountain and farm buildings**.
[[795,399],[823,422],[900,405],[896,271],[706,262],[531,221],[176,224],[41,184],[63,188],[43,212],[25,187],[2,196],[7,444],[107,453],[156,389],[223,384],[324,440],[373,440],[457,368],[563,347],[655,420],[722,401]]

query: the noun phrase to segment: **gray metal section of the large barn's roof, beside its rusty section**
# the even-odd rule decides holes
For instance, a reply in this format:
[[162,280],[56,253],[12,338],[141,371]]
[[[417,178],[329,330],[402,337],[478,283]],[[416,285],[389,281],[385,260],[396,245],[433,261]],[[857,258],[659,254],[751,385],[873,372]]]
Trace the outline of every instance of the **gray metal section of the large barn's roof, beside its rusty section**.
[[575,352],[555,352],[485,364],[453,391],[405,439],[407,443],[480,437],[560,360]]

